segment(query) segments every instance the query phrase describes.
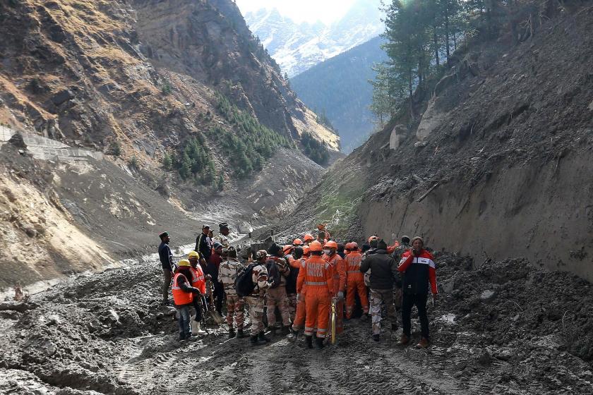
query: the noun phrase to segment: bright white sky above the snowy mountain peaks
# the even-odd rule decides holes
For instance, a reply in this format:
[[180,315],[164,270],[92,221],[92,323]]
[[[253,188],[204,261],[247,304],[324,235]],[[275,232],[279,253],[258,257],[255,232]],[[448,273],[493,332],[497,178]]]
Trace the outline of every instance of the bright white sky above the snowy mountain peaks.
[[257,11],[260,8],[277,8],[282,16],[296,23],[332,23],[343,16],[354,0],[236,0],[241,13]]

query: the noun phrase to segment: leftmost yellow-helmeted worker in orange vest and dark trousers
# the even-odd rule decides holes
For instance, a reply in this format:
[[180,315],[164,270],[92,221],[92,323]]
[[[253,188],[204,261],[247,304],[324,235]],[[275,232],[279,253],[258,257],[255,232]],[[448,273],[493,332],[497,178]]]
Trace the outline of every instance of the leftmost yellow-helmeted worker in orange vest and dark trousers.
[[173,277],[173,301],[179,315],[179,340],[191,339],[189,307],[193,297],[200,296],[200,290],[191,286],[191,264],[188,260],[179,261]]

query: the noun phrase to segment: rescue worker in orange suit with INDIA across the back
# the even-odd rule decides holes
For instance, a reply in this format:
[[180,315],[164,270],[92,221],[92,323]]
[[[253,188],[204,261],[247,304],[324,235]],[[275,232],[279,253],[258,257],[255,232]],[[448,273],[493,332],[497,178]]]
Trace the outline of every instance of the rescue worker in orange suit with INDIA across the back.
[[[305,343],[313,348],[313,329],[317,326],[316,344],[323,348],[323,339],[328,333],[330,317],[330,303],[333,296],[333,272],[330,264],[321,257],[323,247],[318,241],[311,242],[309,246],[311,257],[306,260],[296,279],[297,300],[302,298],[301,293],[306,292],[305,298]],[[299,303],[300,304],[300,303]],[[299,316],[296,317],[293,329],[299,329]]]

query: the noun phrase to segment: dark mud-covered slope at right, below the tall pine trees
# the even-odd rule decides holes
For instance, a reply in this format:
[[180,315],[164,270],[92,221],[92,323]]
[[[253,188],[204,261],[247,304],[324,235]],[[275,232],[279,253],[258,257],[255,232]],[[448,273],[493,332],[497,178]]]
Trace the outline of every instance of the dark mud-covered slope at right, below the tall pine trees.
[[592,29],[589,6],[520,44],[456,54],[433,95],[417,92],[416,119],[394,119],[314,193],[344,195],[340,180],[355,179],[366,193],[352,230],[593,279]]

